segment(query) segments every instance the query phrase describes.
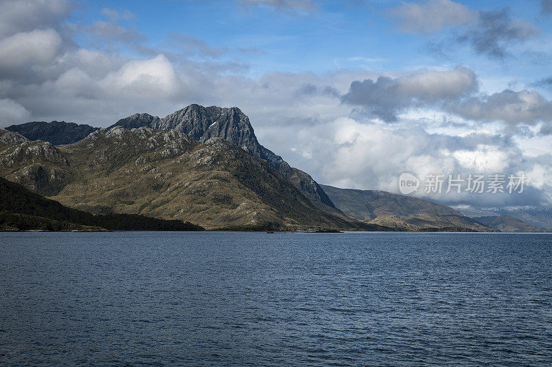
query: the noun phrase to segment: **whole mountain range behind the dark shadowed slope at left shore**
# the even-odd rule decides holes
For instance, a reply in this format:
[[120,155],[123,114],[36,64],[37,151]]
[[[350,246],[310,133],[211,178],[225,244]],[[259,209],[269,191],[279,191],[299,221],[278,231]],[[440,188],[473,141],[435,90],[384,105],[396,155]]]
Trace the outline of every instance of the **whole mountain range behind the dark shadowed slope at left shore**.
[[134,114],[108,129],[54,121],[8,130],[0,176],[96,215],[207,229],[495,231],[428,200],[318,185],[260,145],[237,107]]

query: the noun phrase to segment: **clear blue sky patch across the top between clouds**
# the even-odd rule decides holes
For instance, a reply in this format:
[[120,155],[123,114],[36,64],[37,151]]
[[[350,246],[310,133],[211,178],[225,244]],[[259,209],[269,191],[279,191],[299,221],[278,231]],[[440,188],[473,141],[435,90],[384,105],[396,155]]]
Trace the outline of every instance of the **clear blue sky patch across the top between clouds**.
[[[248,65],[251,75],[274,70],[316,73],[340,68],[416,70],[451,64],[477,68],[489,78],[503,78],[507,73],[512,81],[520,78],[520,83],[549,74],[549,63],[535,63],[523,55],[538,49],[538,45],[516,50],[521,52],[513,51],[507,59],[492,61],[473,52],[468,45],[455,45],[449,54],[435,55],[427,50],[428,43],[446,41],[451,32],[421,35],[402,32],[397,27],[397,19],[388,14],[400,6],[400,1],[313,3],[312,10],[295,10],[235,1],[82,1],[70,20],[85,24],[107,20],[101,12],[105,8],[121,13],[130,11],[132,17],[121,19],[120,23],[135,27],[151,47],[174,49],[168,36],[184,33],[215,48],[257,50],[224,56],[228,61]],[[540,40],[551,37],[551,21],[542,15],[540,1],[463,1],[462,4],[475,11],[507,9],[513,18],[537,26],[542,32]],[[77,39],[81,45],[87,45],[85,37]],[[126,52],[141,56],[133,50]]]

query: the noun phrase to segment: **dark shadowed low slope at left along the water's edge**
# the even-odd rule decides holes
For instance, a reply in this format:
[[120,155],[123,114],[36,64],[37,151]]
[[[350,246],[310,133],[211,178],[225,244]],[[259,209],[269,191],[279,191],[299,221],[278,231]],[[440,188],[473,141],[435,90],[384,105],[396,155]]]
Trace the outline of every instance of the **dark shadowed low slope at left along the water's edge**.
[[64,207],[25,187],[0,177],[0,231],[199,231],[180,220],[161,220],[129,214],[95,216]]

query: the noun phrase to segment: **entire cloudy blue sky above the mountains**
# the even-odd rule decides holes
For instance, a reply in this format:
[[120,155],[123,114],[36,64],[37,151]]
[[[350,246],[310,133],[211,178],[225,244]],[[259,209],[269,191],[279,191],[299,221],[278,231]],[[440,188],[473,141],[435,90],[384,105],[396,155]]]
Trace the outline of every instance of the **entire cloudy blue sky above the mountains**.
[[[552,0],[0,0],[1,127],[237,106],[319,183],[448,205],[552,205],[551,63]],[[524,191],[424,192],[470,174]]]

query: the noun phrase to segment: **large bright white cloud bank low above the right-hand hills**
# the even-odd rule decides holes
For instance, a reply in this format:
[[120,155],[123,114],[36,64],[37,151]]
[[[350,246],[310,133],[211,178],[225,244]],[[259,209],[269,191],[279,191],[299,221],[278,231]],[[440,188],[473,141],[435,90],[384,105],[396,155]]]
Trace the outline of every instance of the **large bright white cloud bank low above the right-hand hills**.
[[[397,125],[359,123],[338,118],[328,123],[304,127],[293,134],[284,129],[292,149],[282,154],[291,165],[304,169],[318,182],[355,189],[382,189],[398,192],[403,172],[424,181],[429,174],[528,174],[524,195],[491,193],[413,195],[450,205],[546,205],[552,187],[543,185],[546,156],[523,156],[509,138],[490,134],[448,136],[428,134],[424,129]],[[549,156],[549,155],[548,155]],[[445,186],[446,188],[446,186]]]

